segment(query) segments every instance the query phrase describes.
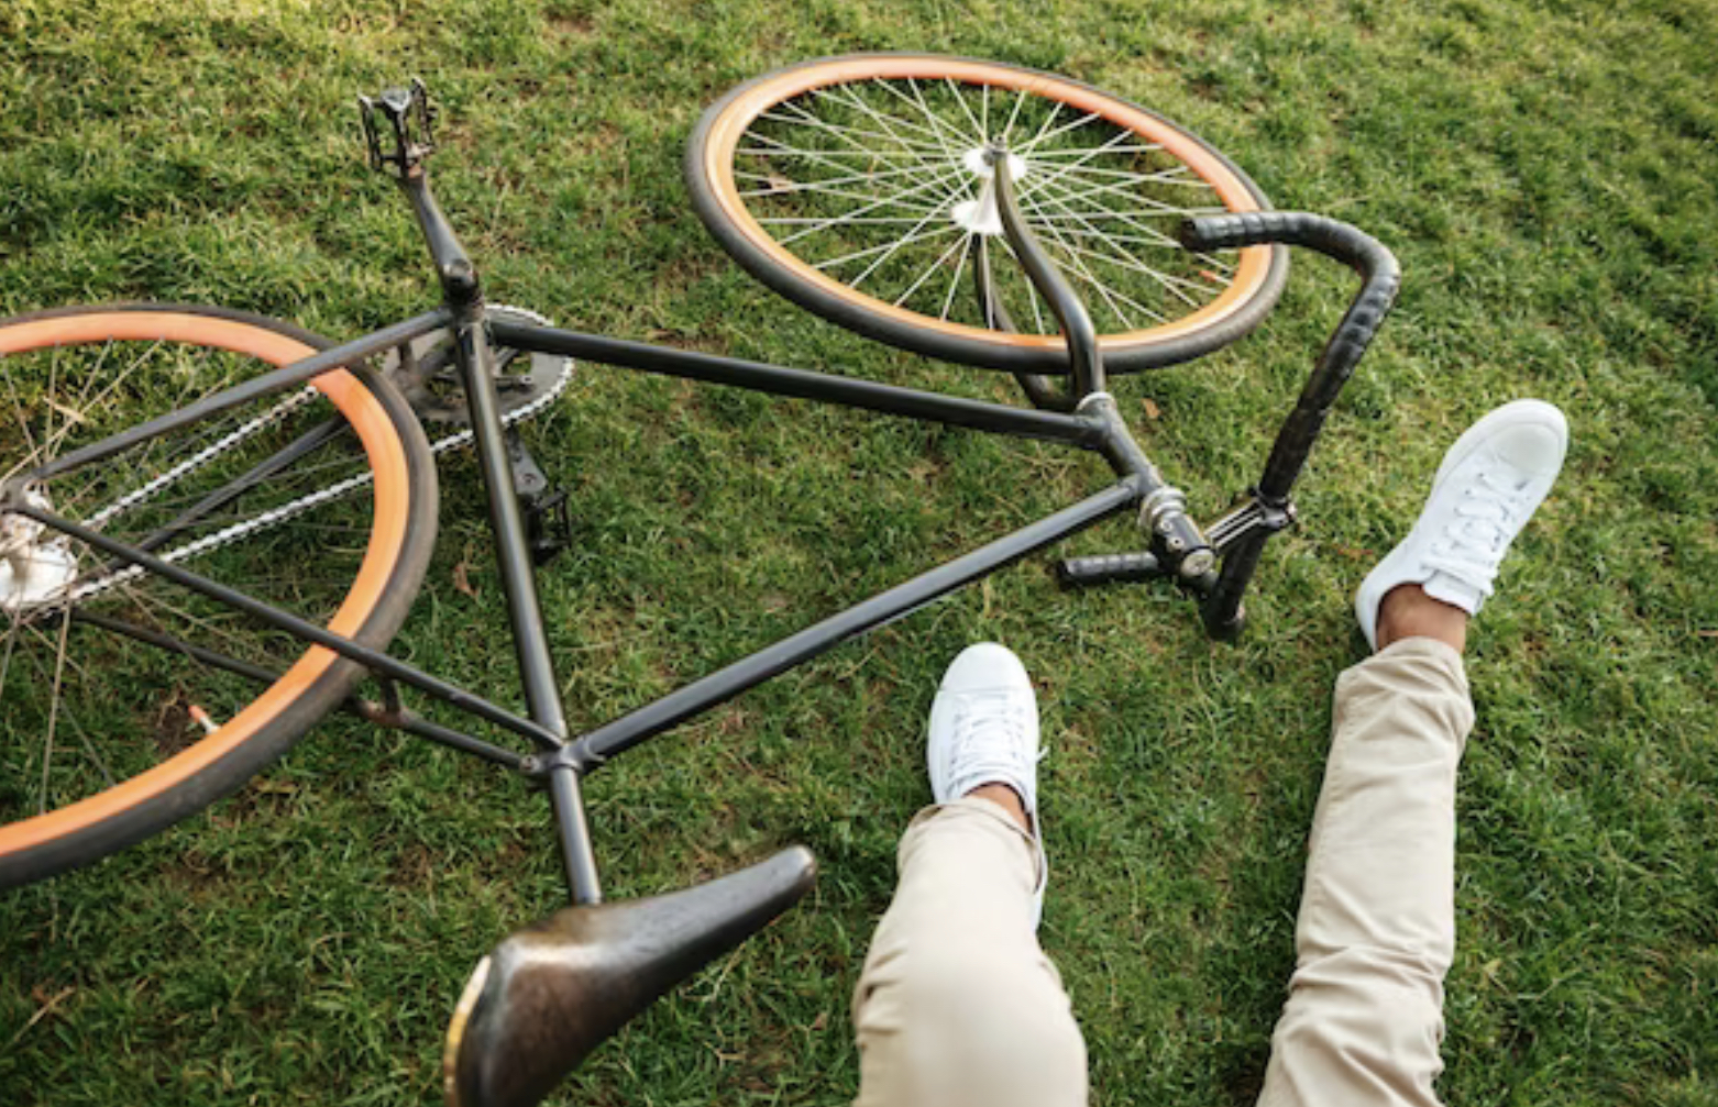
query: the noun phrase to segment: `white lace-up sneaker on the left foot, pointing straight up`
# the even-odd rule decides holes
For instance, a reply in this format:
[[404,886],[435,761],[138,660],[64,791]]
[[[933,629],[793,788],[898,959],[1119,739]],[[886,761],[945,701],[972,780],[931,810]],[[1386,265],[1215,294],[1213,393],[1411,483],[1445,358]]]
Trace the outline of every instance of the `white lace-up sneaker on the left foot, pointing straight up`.
[[1038,851],[1034,927],[1043,915],[1045,877],[1050,870],[1038,819],[1041,757],[1038,697],[1020,659],[995,642],[960,650],[943,673],[931,704],[929,740],[924,748],[931,796],[938,803],[950,803],[983,784],[1007,784],[1020,796]]

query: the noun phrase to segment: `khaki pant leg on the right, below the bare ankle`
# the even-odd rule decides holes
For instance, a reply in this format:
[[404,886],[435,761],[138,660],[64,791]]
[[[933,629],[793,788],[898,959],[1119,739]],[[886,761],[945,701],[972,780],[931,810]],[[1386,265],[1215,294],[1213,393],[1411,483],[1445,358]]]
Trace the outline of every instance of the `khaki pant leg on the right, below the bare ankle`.
[[1435,1107],[1455,954],[1460,654],[1404,638],[1337,681],[1295,971],[1261,1107]]

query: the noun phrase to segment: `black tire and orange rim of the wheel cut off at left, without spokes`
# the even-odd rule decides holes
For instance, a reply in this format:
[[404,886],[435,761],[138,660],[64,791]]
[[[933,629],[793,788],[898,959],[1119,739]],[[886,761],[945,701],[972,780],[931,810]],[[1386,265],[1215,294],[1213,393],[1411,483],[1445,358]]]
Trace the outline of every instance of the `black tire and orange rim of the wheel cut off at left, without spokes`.
[[[246,360],[256,357],[277,364],[332,345],[326,338],[277,319],[216,307],[156,304],[69,307],[0,321],[0,367],[5,367],[9,354],[36,348],[53,348],[57,350],[53,357],[60,357],[58,350],[76,354],[72,342],[27,345],[40,342],[40,336],[48,331],[69,335],[76,342],[96,342],[107,333],[108,348],[119,348],[120,342],[136,342],[139,335],[160,333],[163,338],[155,342],[155,347],[170,352],[184,347],[191,352],[211,350],[216,352],[215,357],[237,354]],[[268,354],[261,354],[261,350],[268,350]],[[354,470],[371,469],[375,475],[371,477],[369,511],[378,518],[383,513],[388,517],[385,525],[371,525],[369,541],[361,554],[359,575],[349,585],[333,585],[345,589],[337,592],[342,596],[338,620],[356,623],[349,633],[364,645],[381,649],[404,623],[435,544],[438,494],[435,460],[411,405],[393,384],[368,367],[338,369],[320,381],[328,384],[330,391],[325,395],[330,395],[337,412],[364,424],[354,434],[361,439],[361,451],[347,448],[344,463]],[[347,426],[350,427],[350,424]],[[387,475],[376,469],[378,458],[383,458],[381,469],[387,469]],[[290,522],[282,523],[282,527],[289,525]],[[376,570],[371,570],[373,558],[376,558]],[[306,566],[290,568],[306,578],[316,577]],[[79,604],[74,604],[74,609],[79,609]],[[55,625],[65,628],[60,632],[67,635],[62,637],[60,645],[64,654],[70,635],[69,628],[77,623],[55,620]],[[0,635],[3,633],[5,623],[0,623]],[[15,621],[12,633],[17,633]],[[82,628],[79,628],[81,633],[84,633]],[[101,649],[100,644],[107,640],[103,632],[103,637],[96,640],[96,649]],[[302,649],[302,654],[285,654],[295,657],[285,676],[270,685],[266,692],[256,693],[254,700],[211,733],[172,753],[163,752],[153,767],[110,779],[107,788],[40,815],[17,819],[12,807],[0,812],[0,819],[10,819],[0,826],[0,887],[38,880],[94,862],[230,795],[280,757],[318,719],[333,711],[364,673],[359,664],[332,657],[326,650],[304,647],[302,642],[285,649]],[[179,662],[172,650],[167,654],[172,662]],[[141,656],[153,661],[160,654]],[[65,662],[60,664],[64,668]],[[222,673],[222,676],[227,674]],[[301,680],[294,680],[295,676]],[[55,695],[58,695],[58,688],[55,688]],[[235,695],[242,697],[244,692]],[[58,709],[58,704],[53,707]],[[9,714],[12,714],[10,709]],[[129,738],[132,745],[148,745],[148,735],[131,735]],[[122,743],[115,743],[115,747],[124,748]],[[48,762],[50,759],[45,757],[43,764]],[[43,779],[46,781],[46,769],[43,769]],[[7,781],[0,781],[0,786],[5,784]],[[45,783],[43,802],[46,802],[46,795]],[[67,812],[77,814],[72,817]]]

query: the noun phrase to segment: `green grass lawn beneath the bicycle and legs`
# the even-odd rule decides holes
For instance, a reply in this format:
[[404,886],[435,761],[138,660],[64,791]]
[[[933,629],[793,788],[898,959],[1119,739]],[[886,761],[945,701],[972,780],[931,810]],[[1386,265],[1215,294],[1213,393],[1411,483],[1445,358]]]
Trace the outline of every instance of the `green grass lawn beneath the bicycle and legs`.
[[[605,1045],[565,1104],[842,1104],[847,1002],[928,800],[962,644],[1039,683],[1043,941],[1094,1104],[1251,1104],[1292,963],[1349,596],[1443,446],[1524,395],[1569,467],[1476,626],[1450,1104],[1718,1104],[1718,12],[1703,0],[7,0],[0,311],[208,300],[356,335],[431,302],[352,94],[421,74],[435,175],[491,297],[584,330],[1008,398],[765,292],[679,173],[706,103],[789,62],[924,48],[1180,120],[1282,208],[1402,259],[1237,645],[1149,587],[1041,561],[680,728],[589,783],[612,896],[801,841],[818,891]],[[1297,257],[1251,338],[1115,388],[1211,517],[1256,477],[1352,292]],[[1149,400],[1149,403],[1148,403]],[[1101,487],[1036,445],[589,367],[533,443],[572,491],[543,577],[594,726]],[[469,460],[399,652],[512,702]],[[1124,523],[1069,547],[1132,546]],[[462,573],[462,577],[457,577]],[[455,578],[469,589],[457,587]],[[3,707],[0,707],[3,709]],[[541,796],[337,719],[206,815],[0,899],[0,1102],[440,1095],[471,966],[560,903]]]

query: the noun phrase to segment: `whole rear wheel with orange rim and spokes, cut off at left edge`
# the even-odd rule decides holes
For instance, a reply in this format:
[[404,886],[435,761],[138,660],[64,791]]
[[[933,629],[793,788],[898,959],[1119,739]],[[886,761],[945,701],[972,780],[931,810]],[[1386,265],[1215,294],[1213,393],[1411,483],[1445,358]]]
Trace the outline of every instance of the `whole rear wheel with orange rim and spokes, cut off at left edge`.
[[[3,319],[0,477],[326,345],[211,307]],[[361,367],[26,494],[371,647],[399,630],[435,542],[423,429]],[[0,517],[0,886],[93,862],[234,791],[361,676],[326,649]]]

